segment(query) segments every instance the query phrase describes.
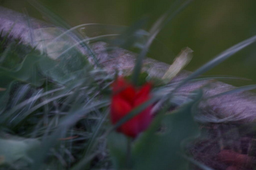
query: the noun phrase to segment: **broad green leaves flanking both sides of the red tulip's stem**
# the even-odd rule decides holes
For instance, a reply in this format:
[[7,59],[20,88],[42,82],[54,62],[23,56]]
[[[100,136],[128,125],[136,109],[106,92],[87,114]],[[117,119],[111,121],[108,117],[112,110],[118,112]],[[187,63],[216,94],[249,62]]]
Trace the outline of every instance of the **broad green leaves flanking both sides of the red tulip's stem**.
[[134,141],[130,167],[127,167],[125,137],[112,133],[108,143],[115,169],[187,169],[181,144],[184,146],[185,139],[199,135],[192,112],[200,96],[201,93],[197,94],[196,99],[174,112],[163,111],[155,117],[150,128]]

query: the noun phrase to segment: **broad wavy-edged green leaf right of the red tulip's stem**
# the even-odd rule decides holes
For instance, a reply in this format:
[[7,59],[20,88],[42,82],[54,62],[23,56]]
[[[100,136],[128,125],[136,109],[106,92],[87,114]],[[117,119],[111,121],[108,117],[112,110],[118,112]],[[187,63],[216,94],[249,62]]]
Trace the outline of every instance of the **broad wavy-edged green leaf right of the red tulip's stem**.
[[[195,137],[199,128],[193,120],[192,111],[201,98],[180,107],[171,114],[159,114],[149,130],[135,142],[133,150],[134,169],[185,169],[187,162],[180,156],[180,146],[184,139]],[[185,125],[185,126],[184,126]],[[159,127],[161,134],[156,133]],[[184,144],[184,143],[183,143]]]

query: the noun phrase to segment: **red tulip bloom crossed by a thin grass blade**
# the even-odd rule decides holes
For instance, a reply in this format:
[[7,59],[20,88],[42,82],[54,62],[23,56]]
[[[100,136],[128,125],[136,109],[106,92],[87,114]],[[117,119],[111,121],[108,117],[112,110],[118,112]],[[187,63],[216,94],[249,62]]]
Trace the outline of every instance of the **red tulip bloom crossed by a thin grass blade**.
[[[131,110],[138,107],[150,99],[151,84],[146,83],[140,89],[127,83],[125,79],[119,77],[112,84],[113,96],[110,105],[110,116],[113,124],[126,116]],[[117,130],[129,137],[137,137],[139,133],[146,130],[152,120],[152,105],[144,109],[141,113],[125,122]]]

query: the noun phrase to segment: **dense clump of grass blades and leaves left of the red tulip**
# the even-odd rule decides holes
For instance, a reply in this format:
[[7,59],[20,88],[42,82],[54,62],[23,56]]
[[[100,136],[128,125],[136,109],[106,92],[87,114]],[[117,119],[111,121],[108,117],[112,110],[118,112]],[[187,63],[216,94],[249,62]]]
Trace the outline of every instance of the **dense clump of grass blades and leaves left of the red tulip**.
[[[0,137],[0,168],[70,169],[106,152],[98,138],[109,104],[101,91],[108,93],[110,76],[76,49],[57,59],[15,42],[2,49],[0,133],[13,137]],[[83,165],[105,161],[92,164],[98,154]]]

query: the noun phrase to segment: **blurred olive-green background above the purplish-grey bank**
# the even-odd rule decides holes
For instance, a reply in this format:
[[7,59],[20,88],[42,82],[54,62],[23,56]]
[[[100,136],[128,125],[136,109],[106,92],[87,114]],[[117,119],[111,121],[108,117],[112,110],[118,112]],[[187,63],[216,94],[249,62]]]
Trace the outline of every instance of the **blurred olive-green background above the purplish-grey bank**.
[[[149,18],[146,29],[174,3],[171,0],[39,0],[72,27],[84,23],[131,25],[144,16]],[[28,2],[2,0],[0,5],[38,19],[42,15]],[[195,0],[159,33],[158,45],[152,46],[151,57],[172,63],[174,56],[188,46],[193,53],[186,67],[193,71],[223,50],[256,35],[255,0]],[[162,48],[166,49],[162,52]],[[229,83],[256,83],[256,43],[221,63],[206,75],[233,75],[251,79]]]

